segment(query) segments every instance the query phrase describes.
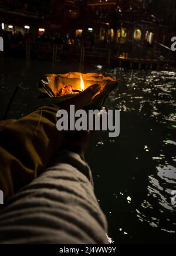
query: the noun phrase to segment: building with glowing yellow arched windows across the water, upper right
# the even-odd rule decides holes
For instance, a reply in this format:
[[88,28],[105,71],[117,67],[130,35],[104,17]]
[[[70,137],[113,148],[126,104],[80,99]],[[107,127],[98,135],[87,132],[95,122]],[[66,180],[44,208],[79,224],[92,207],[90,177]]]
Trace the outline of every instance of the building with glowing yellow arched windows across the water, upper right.
[[92,26],[94,40],[101,47],[118,48],[127,42],[152,47],[155,41],[169,47],[175,3],[175,0],[88,0],[84,23]]

